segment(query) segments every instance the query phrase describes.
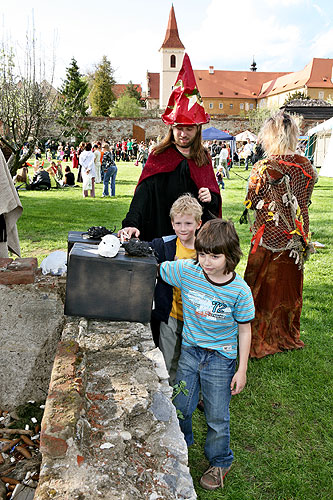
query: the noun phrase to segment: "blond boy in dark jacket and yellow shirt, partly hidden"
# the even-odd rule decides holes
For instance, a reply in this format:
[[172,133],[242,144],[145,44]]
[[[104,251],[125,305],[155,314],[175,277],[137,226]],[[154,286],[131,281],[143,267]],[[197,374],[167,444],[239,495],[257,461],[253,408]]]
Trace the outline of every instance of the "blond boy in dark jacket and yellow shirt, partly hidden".
[[[158,261],[194,259],[195,233],[201,226],[202,207],[191,195],[180,196],[172,205],[170,217],[175,235],[156,238],[151,246]],[[157,323],[157,325],[156,325]],[[155,289],[155,308],[152,324],[158,329],[158,346],[163,353],[170,385],[176,376],[183,329],[182,299],[179,288],[158,280]]]

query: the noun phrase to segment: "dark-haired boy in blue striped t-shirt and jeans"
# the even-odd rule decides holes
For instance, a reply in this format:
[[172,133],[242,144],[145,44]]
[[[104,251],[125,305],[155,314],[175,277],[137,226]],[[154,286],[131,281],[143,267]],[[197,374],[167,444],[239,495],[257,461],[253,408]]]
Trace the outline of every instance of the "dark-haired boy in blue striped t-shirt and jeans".
[[185,381],[188,395],[181,392],[174,399],[184,416],[180,427],[190,446],[194,442],[192,414],[201,390],[208,426],[205,455],[210,467],[200,484],[215,490],[223,487],[233,461],[229,403],[246,384],[254,305],[250,288],[234,272],[242,252],[231,221],[206,222],[195,240],[195,249],[197,261],[163,262],[160,276],[180,288],[183,301],[183,340],[176,383]]

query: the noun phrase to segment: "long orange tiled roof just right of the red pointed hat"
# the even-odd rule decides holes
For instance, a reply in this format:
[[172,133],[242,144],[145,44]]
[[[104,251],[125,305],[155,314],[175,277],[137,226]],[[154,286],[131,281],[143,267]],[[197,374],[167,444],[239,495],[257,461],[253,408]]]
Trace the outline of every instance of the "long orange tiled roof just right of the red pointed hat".
[[286,73],[194,70],[202,97],[257,99],[264,82]]

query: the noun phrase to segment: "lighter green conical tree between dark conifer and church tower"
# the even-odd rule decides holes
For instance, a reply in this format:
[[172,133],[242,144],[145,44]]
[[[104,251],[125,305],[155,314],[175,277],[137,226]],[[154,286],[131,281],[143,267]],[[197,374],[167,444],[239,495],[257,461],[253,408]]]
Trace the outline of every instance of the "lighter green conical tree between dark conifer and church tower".
[[106,56],[96,67],[94,82],[90,92],[90,102],[93,116],[109,116],[109,109],[116,100],[112,91],[115,84],[114,69]]

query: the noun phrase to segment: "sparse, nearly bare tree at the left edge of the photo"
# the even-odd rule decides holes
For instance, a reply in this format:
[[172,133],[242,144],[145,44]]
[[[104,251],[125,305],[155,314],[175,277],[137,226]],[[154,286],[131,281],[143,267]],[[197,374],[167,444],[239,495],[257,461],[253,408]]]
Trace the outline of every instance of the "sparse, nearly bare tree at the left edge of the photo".
[[[0,53],[0,142],[10,151],[8,167],[14,176],[45,137],[55,120],[57,92],[45,79],[45,64],[37,59],[35,38],[27,36],[23,70],[14,51],[2,43]],[[22,148],[26,145],[26,153]]]

